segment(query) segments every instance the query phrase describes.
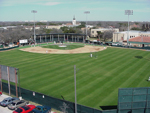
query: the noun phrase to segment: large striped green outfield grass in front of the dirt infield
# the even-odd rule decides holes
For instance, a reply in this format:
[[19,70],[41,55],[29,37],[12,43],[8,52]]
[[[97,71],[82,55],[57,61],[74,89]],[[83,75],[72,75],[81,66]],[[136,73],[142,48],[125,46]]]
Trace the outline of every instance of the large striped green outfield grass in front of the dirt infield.
[[100,109],[117,105],[118,88],[149,87],[150,52],[108,48],[84,54],[40,54],[19,49],[0,52],[0,64],[19,68],[21,87],[74,102],[74,65],[77,102]]

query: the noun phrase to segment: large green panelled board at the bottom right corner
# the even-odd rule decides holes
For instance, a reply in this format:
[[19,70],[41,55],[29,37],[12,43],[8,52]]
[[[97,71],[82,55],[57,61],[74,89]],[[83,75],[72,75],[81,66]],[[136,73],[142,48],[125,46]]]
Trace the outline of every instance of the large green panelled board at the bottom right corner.
[[150,88],[124,88],[118,93],[118,113],[147,113],[150,110]]

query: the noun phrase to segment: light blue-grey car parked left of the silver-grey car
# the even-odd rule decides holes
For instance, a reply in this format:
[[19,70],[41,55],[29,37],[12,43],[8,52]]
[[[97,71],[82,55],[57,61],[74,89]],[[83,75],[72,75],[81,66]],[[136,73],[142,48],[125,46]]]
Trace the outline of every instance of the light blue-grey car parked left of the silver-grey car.
[[5,98],[3,101],[1,101],[0,105],[3,106],[3,107],[6,107],[8,104],[11,104],[15,100],[19,100],[19,98],[8,97],[8,98]]

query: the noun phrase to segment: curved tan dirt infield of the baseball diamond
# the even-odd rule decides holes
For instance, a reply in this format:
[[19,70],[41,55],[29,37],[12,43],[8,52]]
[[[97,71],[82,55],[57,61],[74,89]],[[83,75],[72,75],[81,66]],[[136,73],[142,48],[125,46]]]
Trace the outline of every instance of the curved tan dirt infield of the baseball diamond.
[[59,49],[50,49],[50,48],[42,48],[42,47],[30,47],[25,49],[20,49],[22,51],[33,52],[33,53],[48,53],[48,54],[75,54],[75,53],[90,53],[90,52],[98,52],[106,49],[106,47],[100,46],[84,46],[77,49],[72,50],[59,50]]

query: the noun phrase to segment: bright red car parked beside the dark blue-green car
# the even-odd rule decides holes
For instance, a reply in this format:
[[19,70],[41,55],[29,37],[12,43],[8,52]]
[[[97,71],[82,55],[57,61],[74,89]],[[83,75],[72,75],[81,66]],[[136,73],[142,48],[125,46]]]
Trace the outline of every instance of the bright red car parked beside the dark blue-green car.
[[26,105],[13,111],[13,113],[28,113],[32,111],[35,107],[36,107],[35,105]]

